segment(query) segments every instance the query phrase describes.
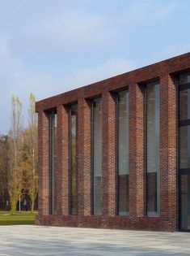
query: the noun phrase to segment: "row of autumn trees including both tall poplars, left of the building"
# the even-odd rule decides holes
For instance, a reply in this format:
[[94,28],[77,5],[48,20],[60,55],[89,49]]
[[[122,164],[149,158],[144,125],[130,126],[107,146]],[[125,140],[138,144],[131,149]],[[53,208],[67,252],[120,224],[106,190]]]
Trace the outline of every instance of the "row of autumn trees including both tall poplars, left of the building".
[[[19,198],[31,201],[31,210],[38,193],[37,115],[35,97],[30,95],[28,126],[23,128],[23,105],[18,97],[11,99],[11,130],[0,136],[0,207],[9,200],[14,213]],[[7,206],[6,206],[7,208]]]

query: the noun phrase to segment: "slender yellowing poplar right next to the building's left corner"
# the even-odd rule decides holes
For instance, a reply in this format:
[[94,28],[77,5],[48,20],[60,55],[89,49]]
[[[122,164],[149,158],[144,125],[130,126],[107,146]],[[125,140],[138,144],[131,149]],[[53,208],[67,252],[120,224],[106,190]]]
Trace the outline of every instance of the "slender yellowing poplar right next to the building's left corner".
[[30,106],[28,108],[28,149],[29,149],[29,162],[31,167],[29,168],[28,176],[28,194],[32,201],[31,210],[34,210],[34,203],[38,193],[38,173],[37,173],[37,161],[38,161],[38,133],[37,133],[37,114],[35,111],[36,99],[33,93],[30,95]]

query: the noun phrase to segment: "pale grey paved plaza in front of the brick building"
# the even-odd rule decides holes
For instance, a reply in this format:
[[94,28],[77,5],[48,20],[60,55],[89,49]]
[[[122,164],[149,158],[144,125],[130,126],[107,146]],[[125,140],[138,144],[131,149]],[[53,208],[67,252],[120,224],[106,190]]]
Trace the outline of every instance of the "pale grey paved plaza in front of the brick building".
[[190,233],[0,226],[1,256],[190,255]]

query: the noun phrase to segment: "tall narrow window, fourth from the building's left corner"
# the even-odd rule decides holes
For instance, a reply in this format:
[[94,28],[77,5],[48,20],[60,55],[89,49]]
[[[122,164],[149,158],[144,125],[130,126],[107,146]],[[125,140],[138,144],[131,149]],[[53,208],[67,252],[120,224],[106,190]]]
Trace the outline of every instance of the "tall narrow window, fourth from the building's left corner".
[[117,213],[129,215],[129,92],[117,102]]

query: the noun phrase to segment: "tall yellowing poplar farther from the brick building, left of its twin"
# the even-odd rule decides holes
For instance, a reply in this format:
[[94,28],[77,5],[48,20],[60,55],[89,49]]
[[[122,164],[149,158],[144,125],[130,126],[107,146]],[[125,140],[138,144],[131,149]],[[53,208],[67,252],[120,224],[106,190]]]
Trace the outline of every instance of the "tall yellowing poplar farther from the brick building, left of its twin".
[[23,189],[23,115],[22,103],[18,97],[12,97],[11,131],[9,136],[8,192],[11,212],[16,210]]

